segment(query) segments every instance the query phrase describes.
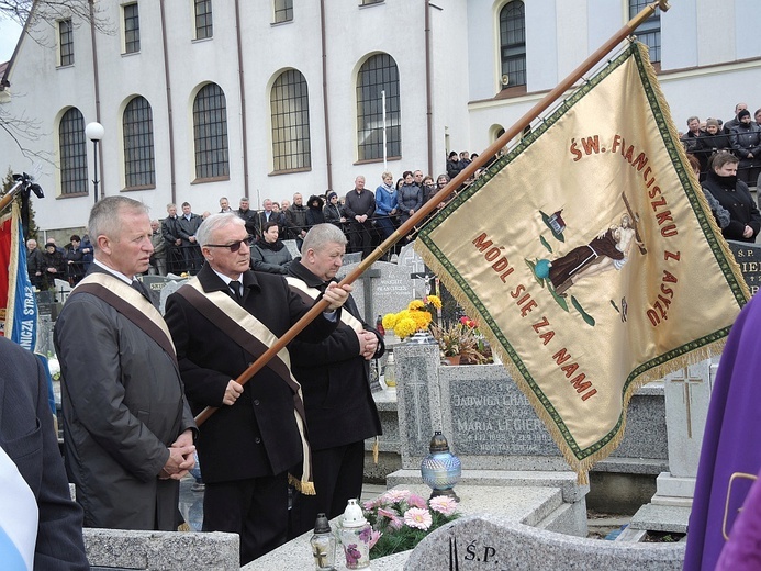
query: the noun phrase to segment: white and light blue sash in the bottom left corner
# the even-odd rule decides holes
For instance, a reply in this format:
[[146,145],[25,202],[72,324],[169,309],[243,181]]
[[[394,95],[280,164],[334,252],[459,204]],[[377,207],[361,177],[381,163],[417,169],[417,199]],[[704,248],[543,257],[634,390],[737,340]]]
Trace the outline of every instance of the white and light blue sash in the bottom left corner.
[[34,493],[0,447],[0,561],[2,568],[32,571],[38,511]]

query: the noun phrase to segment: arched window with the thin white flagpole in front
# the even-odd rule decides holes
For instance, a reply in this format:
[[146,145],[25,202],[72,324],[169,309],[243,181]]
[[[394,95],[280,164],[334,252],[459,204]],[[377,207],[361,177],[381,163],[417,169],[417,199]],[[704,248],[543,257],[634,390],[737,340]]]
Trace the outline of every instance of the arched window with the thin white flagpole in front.
[[387,156],[402,156],[399,69],[389,54],[377,54],[357,74],[357,155],[359,160],[383,158],[383,93],[385,92]]

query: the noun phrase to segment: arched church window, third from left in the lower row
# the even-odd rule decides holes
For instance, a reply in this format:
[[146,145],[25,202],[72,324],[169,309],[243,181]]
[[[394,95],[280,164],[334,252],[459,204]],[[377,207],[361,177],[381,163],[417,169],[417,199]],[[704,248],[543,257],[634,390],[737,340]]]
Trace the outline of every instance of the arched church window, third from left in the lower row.
[[195,178],[230,176],[227,152],[227,103],[216,83],[203,86],[193,101]]

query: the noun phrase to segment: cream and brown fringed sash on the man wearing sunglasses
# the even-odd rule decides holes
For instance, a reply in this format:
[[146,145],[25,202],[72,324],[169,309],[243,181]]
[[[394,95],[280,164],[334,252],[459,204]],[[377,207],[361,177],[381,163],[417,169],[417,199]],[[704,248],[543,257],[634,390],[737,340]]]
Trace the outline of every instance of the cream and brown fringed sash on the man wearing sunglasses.
[[[225,332],[234,343],[249,352],[255,359],[261,357],[272,345],[278,342],[278,336],[248,313],[230,295],[221,291],[206,292],[198,278],[192,278],[183,284],[177,293],[210,322]],[[306,422],[304,412],[304,398],[301,393],[301,384],[291,373],[291,357],[287,348],[278,351],[268,363],[280,379],[293,393],[293,416],[295,417],[301,446],[304,451],[303,472],[301,478],[288,474],[292,483],[300,492],[314,495],[314,482],[312,481],[312,452],[306,440]]]

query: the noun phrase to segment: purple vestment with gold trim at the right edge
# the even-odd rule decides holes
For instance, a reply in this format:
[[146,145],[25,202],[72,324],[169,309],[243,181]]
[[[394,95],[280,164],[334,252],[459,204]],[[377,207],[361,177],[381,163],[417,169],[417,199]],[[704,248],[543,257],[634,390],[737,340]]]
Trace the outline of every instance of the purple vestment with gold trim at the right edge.
[[[721,355],[697,467],[685,571],[716,567],[761,469],[761,299],[740,312]],[[725,518],[726,513],[726,518]]]

